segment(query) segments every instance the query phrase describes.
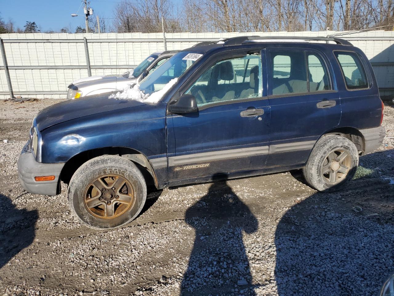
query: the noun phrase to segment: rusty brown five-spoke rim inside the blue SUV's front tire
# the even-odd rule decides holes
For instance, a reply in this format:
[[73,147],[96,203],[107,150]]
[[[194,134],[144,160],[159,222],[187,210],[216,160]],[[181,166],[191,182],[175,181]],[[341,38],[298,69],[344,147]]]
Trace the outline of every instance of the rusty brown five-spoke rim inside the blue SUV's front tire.
[[125,213],[134,200],[134,189],[122,176],[106,174],[93,180],[85,190],[84,204],[95,217],[113,219]]

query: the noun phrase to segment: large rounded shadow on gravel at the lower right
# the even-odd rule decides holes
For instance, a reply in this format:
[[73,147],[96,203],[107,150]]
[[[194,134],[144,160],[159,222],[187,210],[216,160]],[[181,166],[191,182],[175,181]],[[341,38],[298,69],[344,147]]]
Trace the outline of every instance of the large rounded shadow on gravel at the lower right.
[[279,296],[372,296],[394,271],[394,185],[385,180],[394,177],[394,150],[361,157],[360,164],[344,189],[315,193],[279,221]]

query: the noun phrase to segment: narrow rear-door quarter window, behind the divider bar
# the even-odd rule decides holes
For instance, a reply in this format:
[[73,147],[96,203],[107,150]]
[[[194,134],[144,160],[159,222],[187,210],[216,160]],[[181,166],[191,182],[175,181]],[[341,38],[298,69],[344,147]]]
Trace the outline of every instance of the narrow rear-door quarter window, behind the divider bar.
[[331,90],[329,75],[327,75],[327,69],[322,58],[314,53],[307,53],[307,56],[309,92],[321,92],[323,90]]

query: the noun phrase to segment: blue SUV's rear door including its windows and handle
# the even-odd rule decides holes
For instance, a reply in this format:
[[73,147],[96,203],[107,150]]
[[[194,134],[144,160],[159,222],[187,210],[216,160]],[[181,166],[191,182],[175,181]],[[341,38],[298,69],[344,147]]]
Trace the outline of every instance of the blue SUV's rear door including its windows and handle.
[[299,166],[316,140],[341,118],[331,66],[322,52],[270,49],[271,133],[267,167]]

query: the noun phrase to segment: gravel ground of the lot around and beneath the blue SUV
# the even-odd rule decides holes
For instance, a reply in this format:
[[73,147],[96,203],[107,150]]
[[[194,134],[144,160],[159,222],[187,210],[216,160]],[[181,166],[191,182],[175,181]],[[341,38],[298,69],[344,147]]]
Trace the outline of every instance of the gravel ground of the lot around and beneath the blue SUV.
[[17,159],[59,100],[0,102],[0,295],[375,295],[394,272],[394,109],[355,180],[318,193],[299,171],[149,194],[121,229],[87,229],[63,193],[26,193]]

